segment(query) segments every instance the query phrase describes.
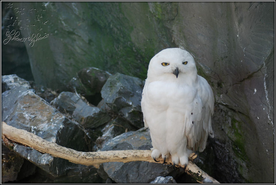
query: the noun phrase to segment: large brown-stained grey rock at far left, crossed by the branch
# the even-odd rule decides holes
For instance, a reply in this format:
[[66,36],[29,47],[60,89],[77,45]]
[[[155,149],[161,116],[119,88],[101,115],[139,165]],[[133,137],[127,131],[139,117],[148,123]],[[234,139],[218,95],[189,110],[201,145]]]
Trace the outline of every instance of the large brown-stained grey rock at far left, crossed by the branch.
[[[77,151],[86,151],[85,131],[49,103],[24,86],[15,86],[2,93],[2,121],[34,133],[47,141]],[[52,176],[66,175],[68,160],[15,144],[13,150]]]

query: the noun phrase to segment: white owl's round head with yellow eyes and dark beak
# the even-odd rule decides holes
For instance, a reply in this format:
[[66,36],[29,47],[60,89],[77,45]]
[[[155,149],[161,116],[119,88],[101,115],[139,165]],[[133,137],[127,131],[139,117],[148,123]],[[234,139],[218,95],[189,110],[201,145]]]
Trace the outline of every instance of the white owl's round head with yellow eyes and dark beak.
[[147,76],[166,78],[197,75],[195,61],[189,52],[180,48],[167,48],[156,54],[149,64]]

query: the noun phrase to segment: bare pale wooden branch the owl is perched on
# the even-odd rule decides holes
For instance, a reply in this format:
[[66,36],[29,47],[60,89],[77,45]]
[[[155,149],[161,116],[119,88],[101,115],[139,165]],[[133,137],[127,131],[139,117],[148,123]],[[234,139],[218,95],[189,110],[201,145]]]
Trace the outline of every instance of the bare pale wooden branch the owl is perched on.
[[[147,161],[155,162],[152,157],[150,150],[112,150],[112,151],[99,151],[99,152],[81,152],[70,148],[62,147],[56,143],[52,143],[38,137],[37,135],[27,132],[22,129],[7,125],[2,121],[1,123],[1,137],[5,144],[11,146],[11,142],[20,143],[22,145],[31,147],[42,153],[49,153],[53,157],[59,157],[69,160],[72,163],[93,165],[99,168],[99,164],[105,162],[131,162],[131,161]],[[196,158],[196,155],[190,156],[190,160]],[[158,159],[163,163],[162,158]],[[171,157],[166,159],[167,164],[173,164]],[[156,162],[155,162],[156,163]],[[176,166],[184,168],[184,166]],[[185,172],[195,178],[200,183],[219,183],[214,178],[210,177],[198,166],[189,161],[189,164],[185,168]]]

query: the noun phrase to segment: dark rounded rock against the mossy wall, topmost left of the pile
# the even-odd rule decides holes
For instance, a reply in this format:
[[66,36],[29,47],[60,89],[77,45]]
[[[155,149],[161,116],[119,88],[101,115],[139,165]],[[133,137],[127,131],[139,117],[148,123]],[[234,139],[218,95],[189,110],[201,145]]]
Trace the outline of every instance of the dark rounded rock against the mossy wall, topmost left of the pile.
[[101,88],[109,76],[111,76],[109,72],[95,67],[83,68],[70,80],[68,88],[71,92],[76,90],[90,103],[97,105],[101,101]]

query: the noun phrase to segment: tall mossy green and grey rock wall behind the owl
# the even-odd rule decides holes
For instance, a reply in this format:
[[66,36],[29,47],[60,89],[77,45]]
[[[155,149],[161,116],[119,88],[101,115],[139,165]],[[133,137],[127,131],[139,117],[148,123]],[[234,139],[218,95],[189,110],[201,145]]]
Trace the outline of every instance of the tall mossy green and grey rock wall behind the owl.
[[[24,44],[35,82],[54,89],[64,89],[88,66],[145,79],[160,50],[189,51],[214,91],[211,145],[229,146],[222,151],[229,151],[241,179],[227,182],[274,182],[275,2],[14,2],[13,7],[25,8],[14,10],[25,27],[22,37],[49,34],[32,47]],[[214,153],[214,163],[223,165]]]

